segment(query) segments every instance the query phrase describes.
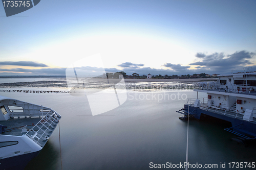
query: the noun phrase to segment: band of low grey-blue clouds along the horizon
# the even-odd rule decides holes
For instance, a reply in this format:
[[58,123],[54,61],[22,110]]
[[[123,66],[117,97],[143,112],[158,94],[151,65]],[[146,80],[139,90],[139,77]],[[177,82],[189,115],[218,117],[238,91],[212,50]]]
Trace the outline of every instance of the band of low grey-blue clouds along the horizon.
[[[99,68],[99,67],[91,67],[91,66],[83,66],[76,67],[78,71],[85,72],[102,72],[103,69],[109,72],[120,72],[124,71],[127,75],[132,75],[136,72],[139,75],[193,75],[200,74],[204,72],[205,74],[230,74],[232,70],[243,70],[244,67],[248,65],[252,65],[252,59],[255,59],[255,53],[240,51],[233,53],[231,55],[224,55],[224,53],[214,53],[214,54],[203,54],[197,53],[196,57],[201,60],[197,62],[193,62],[187,66],[182,66],[181,64],[172,64],[172,63],[164,63],[162,66],[164,68],[157,69],[151,67],[142,67],[144,64],[135,64],[131,62],[121,63],[117,68]],[[19,62],[11,62],[19,63]],[[31,62],[34,64],[40,64]],[[0,62],[0,65],[10,64],[10,62]],[[32,66],[33,64],[30,64]],[[24,66],[25,64],[23,64]],[[195,66],[195,68],[191,68],[191,65]],[[28,66],[28,64],[27,64]],[[251,70],[256,70],[256,66],[252,67]],[[1,69],[1,75],[56,75],[56,76],[65,76],[66,68],[40,68],[40,69],[25,69],[25,68],[12,68],[12,69]],[[91,74],[90,75],[93,75]]]

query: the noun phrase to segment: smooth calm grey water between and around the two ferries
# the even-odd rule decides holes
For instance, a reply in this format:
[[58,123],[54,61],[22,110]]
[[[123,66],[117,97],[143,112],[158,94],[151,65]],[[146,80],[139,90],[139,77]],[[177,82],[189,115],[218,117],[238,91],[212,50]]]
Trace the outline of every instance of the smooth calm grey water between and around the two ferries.
[[[18,92],[1,92],[0,95],[53,108],[62,116],[63,169],[152,169],[150,162],[177,164],[186,160],[187,122],[180,120],[181,114],[176,112],[184,107],[186,100],[153,97],[158,94],[178,96],[178,92],[180,96],[183,94],[183,99],[185,95],[187,98],[197,96],[189,90],[127,91],[129,95],[124,104],[97,116],[92,116],[86,96]],[[146,94],[150,100],[142,100]],[[206,97],[206,94],[199,93],[199,97]],[[256,147],[244,147],[231,141],[235,136],[224,128],[226,125],[215,122],[189,121],[189,163],[216,163],[219,169],[221,162],[225,162],[227,168],[229,162],[255,161]],[[26,169],[35,167],[61,169],[58,128]]]

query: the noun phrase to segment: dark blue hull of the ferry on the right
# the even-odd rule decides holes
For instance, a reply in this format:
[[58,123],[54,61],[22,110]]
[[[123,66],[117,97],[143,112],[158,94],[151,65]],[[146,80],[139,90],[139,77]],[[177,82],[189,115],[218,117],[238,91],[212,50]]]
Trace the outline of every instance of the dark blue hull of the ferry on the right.
[[[188,105],[184,105],[184,112],[188,112]],[[225,130],[244,137],[246,139],[256,138],[256,124],[253,122],[248,122],[243,119],[238,119],[235,117],[226,116],[223,114],[217,114],[207,110],[203,110],[194,106],[189,106],[189,114],[193,115],[194,118],[198,120],[209,119],[210,117],[215,117],[221,120],[225,120],[232,124],[232,127]]]

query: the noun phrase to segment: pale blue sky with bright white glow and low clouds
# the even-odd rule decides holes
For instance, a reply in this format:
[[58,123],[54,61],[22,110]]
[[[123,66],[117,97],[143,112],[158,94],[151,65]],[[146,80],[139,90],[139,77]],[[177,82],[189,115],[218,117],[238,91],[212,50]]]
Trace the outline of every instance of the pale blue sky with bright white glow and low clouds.
[[72,63],[127,75],[256,71],[255,7],[254,0],[41,0],[6,17],[0,5],[0,76],[65,76]]

